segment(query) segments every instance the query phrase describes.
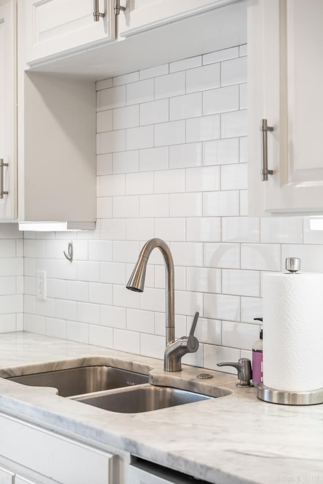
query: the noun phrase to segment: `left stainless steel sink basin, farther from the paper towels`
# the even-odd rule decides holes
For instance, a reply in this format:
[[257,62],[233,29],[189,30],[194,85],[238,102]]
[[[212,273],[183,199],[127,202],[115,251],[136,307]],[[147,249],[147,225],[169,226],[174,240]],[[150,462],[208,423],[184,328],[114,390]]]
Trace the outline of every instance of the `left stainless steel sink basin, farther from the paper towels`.
[[148,383],[148,376],[119,368],[88,366],[10,377],[8,380],[36,387],[54,387],[60,396],[69,397]]

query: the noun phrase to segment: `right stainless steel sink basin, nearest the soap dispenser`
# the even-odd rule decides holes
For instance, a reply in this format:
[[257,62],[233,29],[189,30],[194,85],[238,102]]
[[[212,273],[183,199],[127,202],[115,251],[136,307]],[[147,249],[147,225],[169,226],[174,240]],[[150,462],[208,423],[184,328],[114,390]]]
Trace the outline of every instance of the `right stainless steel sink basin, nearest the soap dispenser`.
[[[229,391],[228,394],[230,393]],[[214,397],[178,388],[158,387],[148,384],[141,385],[140,388],[129,388],[124,391],[110,392],[104,395],[77,397],[73,398],[73,400],[112,412],[139,413],[212,398]]]

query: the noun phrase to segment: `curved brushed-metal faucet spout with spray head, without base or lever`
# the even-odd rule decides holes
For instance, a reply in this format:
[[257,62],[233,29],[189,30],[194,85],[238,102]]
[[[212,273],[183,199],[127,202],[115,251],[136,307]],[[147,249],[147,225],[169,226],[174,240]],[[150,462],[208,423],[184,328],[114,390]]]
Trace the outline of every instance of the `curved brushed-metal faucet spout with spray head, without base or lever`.
[[141,249],[137,264],[127,283],[127,289],[143,292],[146,267],[153,249],[158,248],[163,254],[166,266],[166,345],[175,341],[175,291],[174,291],[174,262],[171,251],[161,238],[151,238]]

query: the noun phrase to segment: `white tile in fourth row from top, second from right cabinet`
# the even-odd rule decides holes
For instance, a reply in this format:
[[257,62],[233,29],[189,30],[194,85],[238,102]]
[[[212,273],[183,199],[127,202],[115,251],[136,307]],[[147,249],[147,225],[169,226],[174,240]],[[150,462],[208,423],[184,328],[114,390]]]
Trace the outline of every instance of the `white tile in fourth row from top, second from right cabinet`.
[[186,119],[186,143],[220,138],[220,115]]

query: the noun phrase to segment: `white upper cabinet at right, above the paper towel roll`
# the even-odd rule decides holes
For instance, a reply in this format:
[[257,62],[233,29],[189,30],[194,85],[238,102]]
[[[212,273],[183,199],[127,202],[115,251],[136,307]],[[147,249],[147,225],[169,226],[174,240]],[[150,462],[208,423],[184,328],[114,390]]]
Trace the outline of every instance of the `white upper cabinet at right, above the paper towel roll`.
[[321,0],[249,0],[249,215],[323,212],[322,25]]

